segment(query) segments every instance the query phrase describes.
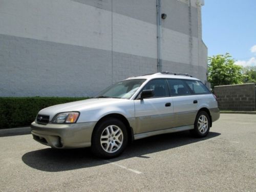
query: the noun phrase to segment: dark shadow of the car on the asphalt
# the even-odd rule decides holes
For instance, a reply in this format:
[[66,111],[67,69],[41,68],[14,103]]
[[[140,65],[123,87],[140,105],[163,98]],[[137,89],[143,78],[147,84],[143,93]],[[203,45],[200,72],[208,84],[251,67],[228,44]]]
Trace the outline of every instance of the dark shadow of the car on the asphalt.
[[188,131],[184,131],[139,139],[127,146],[121,156],[113,158],[110,161],[95,157],[91,153],[90,148],[74,150],[45,148],[24,154],[22,160],[28,166],[38,170],[45,172],[61,172],[108,164],[110,162],[133,157],[150,158],[147,154],[170,150],[175,147],[214,138],[219,135],[221,134],[209,132],[205,138],[193,138]]

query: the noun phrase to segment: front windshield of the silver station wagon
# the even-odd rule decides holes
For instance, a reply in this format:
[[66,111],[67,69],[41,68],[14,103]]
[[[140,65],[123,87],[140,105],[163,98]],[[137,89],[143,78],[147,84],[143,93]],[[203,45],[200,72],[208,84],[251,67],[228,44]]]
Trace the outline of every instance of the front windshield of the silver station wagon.
[[95,98],[130,99],[146,79],[123,80],[100,92]]

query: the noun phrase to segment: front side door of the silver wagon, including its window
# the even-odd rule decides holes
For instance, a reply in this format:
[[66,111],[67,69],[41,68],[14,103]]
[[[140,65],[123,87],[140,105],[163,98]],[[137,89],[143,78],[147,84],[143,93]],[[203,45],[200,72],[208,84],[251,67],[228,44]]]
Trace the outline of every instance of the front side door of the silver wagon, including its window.
[[135,134],[172,127],[173,98],[169,96],[165,79],[153,79],[142,90],[153,90],[154,96],[135,100]]

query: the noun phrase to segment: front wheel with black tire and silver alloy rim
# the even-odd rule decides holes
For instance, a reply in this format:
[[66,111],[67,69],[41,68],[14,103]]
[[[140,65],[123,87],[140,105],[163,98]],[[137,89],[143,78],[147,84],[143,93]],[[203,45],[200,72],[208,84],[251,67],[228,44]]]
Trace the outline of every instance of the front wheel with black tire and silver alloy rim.
[[100,158],[119,156],[127,146],[127,130],[124,123],[108,118],[96,125],[92,136],[92,152]]

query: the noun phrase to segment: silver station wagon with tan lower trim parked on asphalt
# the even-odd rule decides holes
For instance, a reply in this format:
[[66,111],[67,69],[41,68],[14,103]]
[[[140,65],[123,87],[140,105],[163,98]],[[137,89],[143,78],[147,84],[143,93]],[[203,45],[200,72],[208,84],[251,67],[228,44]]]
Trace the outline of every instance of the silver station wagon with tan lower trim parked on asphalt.
[[127,143],[190,130],[205,137],[220,117],[216,97],[197,78],[168,72],[131,77],[92,99],[50,106],[31,124],[33,138],[53,148],[90,147],[120,155]]

